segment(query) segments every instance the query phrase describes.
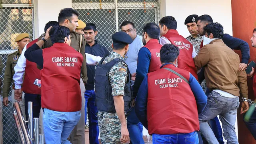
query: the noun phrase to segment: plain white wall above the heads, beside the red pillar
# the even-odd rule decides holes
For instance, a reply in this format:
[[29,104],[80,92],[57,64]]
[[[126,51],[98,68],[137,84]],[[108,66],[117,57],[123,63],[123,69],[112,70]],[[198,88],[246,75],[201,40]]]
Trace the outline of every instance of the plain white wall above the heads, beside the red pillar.
[[[184,21],[187,16],[209,14],[214,22],[219,22],[224,27],[224,33],[232,35],[232,10],[231,0],[160,0],[165,3],[166,16],[174,16],[178,22],[177,30],[185,38],[190,35]],[[161,4],[163,7],[164,4]],[[164,8],[161,8],[161,10]]]

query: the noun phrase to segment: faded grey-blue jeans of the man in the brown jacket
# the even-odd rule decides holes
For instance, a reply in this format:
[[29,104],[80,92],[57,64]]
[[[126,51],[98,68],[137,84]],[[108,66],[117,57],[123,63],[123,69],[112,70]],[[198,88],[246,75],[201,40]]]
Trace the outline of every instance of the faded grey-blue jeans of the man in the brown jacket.
[[238,144],[238,139],[235,132],[235,122],[236,111],[239,104],[239,97],[227,98],[214,91],[209,93],[207,105],[203,112],[198,116],[200,132],[204,138],[206,138],[208,143],[219,144],[208,124],[208,120],[211,120],[219,115],[223,126],[224,138],[228,141],[228,144]]

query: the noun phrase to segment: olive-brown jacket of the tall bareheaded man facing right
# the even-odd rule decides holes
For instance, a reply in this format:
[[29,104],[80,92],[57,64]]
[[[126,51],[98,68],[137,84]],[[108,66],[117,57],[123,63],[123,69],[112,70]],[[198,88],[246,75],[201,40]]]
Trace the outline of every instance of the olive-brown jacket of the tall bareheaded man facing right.
[[[38,38],[38,40],[41,40],[42,36],[45,36],[45,34],[42,34]],[[81,47],[80,47],[80,36],[82,37]],[[82,63],[81,74],[82,74],[83,82],[86,83],[88,78],[87,78],[87,68],[86,68],[86,55],[85,55],[85,50],[84,50],[85,49],[84,36],[82,34],[78,33],[78,32],[72,32],[72,33],[70,33],[70,39],[71,39],[70,46],[83,55],[84,61]],[[50,46],[52,46],[52,41],[49,39],[44,43],[44,45],[42,46],[42,49],[49,48]]]

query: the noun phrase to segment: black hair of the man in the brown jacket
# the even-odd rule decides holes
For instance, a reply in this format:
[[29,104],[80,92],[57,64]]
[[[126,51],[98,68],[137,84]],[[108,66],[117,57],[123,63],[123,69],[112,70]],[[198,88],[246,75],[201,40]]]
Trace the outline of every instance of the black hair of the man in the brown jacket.
[[207,24],[204,27],[204,33],[207,33],[208,36],[212,33],[213,38],[222,38],[224,35],[223,26],[218,22]]

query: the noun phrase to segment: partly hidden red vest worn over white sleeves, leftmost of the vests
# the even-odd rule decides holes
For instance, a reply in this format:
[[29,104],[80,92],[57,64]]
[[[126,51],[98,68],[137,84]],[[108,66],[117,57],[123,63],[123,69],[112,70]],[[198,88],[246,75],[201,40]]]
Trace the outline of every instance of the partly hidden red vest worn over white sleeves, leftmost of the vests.
[[[38,39],[28,43],[27,48],[35,44],[37,41]],[[41,94],[41,88],[38,88],[38,86],[34,85],[34,81],[36,79],[41,80],[40,70],[36,67],[36,63],[30,62],[26,59],[26,69],[22,90],[28,94]]]

